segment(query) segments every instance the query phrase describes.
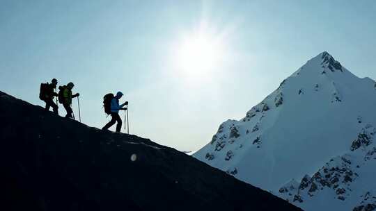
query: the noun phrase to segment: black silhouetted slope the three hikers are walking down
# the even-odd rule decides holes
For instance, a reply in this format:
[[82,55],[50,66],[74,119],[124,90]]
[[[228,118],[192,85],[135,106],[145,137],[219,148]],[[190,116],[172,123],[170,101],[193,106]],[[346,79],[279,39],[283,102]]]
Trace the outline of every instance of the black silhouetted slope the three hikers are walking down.
[[175,149],[3,92],[0,119],[1,210],[299,210]]

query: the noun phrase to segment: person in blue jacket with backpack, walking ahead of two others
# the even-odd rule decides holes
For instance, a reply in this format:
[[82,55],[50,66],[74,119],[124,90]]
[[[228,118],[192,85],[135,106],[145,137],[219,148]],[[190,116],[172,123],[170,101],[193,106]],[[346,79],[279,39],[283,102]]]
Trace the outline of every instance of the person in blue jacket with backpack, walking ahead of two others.
[[104,112],[107,113],[107,115],[111,115],[111,121],[107,123],[102,130],[108,130],[113,124],[118,122],[116,124],[116,132],[120,133],[121,130],[121,118],[119,116],[119,110],[127,110],[127,108],[123,108],[125,105],[128,105],[128,102],[119,105],[119,99],[123,96],[122,92],[116,93],[116,96],[113,96],[113,94],[106,94],[103,98],[103,104],[104,104]]

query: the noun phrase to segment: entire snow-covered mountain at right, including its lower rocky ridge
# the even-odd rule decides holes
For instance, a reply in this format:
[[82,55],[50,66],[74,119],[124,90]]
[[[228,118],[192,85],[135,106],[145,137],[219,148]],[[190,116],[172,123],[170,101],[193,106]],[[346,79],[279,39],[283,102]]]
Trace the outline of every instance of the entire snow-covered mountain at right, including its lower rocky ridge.
[[304,210],[375,209],[375,108],[375,81],[323,52],[193,156]]

